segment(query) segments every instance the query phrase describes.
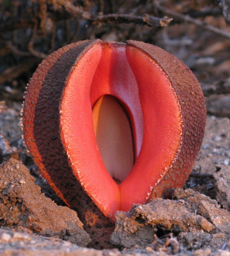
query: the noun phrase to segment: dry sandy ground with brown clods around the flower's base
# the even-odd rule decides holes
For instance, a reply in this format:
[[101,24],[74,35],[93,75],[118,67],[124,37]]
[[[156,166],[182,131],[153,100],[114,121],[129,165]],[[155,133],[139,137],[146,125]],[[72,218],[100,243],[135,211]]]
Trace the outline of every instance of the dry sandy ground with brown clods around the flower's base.
[[[97,250],[86,246],[100,248],[101,241],[92,243],[76,212],[63,206],[23,148],[19,109],[15,104],[0,115],[1,255],[230,256],[228,118],[208,117],[203,145],[184,189],[175,189],[171,200],[117,212],[110,241],[101,238],[110,249]],[[102,232],[106,225],[97,228]]]

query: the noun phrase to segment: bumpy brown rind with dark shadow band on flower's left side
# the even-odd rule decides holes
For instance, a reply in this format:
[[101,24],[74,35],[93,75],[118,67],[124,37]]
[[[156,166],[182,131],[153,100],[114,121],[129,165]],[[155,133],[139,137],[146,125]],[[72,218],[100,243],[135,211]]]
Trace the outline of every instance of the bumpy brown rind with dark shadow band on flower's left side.
[[114,224],[81,188],[69,167],[59,136],[58,109],[66,77],[84,52],[98,42],[101,41],[67,45],[42,61],[28,86],[23,122],[26,144],[42,175],[64,202],[77,211],[87,233],[91,237],[94,234],[94,247],[106,248]]

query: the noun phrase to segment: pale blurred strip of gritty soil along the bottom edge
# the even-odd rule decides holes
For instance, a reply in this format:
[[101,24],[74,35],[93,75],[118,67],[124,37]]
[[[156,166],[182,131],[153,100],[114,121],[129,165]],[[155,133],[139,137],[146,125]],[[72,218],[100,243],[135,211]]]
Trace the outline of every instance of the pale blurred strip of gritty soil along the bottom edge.
[[[167,239],[166,239],[167,240]],[[174,244],[176,240],[168,238],[165,245],[171,244],[173,248],[177,246]],[[159,251],[154,249],[158,247]],[[227,251],[230,248],[230,241],[226,243],[224,249],[214,252],[210,248],[198,249],[191,251],[185,251],[177,253],[177,256],[229,256],[230,252]],[[195,248],[193,248],[195,249]],[[164,244],[151,244],[146,248],[125,248],[121,252],[117,249],[104,249],[95,250],[84,247],[79,247],[76,244],[72,244],[69,241],[63,241],[59,238],[47,238],[38,235],[29,235],[24,232],[15,232],[12,230],[0,229],[0,255],[1,256],[172,256],[172,253],[164,248]],[[175,255],[175,254],[174,254]]]

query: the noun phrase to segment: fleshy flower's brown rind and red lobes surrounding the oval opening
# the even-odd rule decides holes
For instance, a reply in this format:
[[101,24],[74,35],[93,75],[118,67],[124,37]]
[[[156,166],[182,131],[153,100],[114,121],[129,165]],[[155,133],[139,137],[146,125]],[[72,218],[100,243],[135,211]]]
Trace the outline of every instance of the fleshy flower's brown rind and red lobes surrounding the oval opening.
[[[133,129],[135,164],[120,185],[106,171],[93,130],[92,108],[105,94],[119,99]],[[100,211],[112,220],[116,210],[183,186],[202,144],[206,108],[194,74],[172,54],[96,39],[42,61],[23,122],[35,164],[56,193],[85,224],[109,223]]]

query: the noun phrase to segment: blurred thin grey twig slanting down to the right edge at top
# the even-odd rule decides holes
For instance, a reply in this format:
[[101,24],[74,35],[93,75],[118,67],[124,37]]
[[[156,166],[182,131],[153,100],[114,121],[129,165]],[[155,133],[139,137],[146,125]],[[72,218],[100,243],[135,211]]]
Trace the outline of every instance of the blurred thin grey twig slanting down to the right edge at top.
[[230,38],[230,33],[229,32],[224,31],[220,28],[214,27],[212,25],[209,25],[209,24],[207,24],[207,23],[205,23],[201,20],[191,18],[188,15],[183,15],[183,14],[177,13],[177,12],[175,12],[175,11],[169,9],[169,8],[163,7],[163,6],[160,5],[159,1],[154,1],[154,5],[156,6],[156,8],[158,10],[162,11],[163,13],[165,13],[167,15],[170,15],[172,17],[175,17],[175,18],[187,21],[187,22],[194,23],[196,26],[203,27],[203,28],[205,28],[207,30],[210,30],[210,31],[212,31],[212,32],[214,32],[218,35]]

